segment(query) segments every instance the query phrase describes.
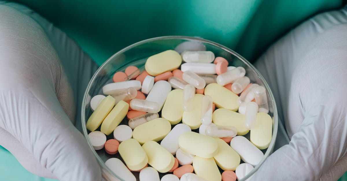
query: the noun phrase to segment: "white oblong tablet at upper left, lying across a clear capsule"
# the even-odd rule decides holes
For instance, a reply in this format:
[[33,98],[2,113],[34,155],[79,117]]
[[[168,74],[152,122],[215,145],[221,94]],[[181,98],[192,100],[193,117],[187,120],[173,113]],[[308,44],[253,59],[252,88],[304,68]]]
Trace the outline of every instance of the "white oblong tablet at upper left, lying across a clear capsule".
[[123,82],[115,82],[106,84],[102,87],[102,92],[106,95],[116,94],[121,89],[127,89],[129,87],[134,87],[136,90],[141,89],[141,81],[138,80],[128,80]]

